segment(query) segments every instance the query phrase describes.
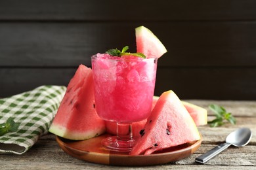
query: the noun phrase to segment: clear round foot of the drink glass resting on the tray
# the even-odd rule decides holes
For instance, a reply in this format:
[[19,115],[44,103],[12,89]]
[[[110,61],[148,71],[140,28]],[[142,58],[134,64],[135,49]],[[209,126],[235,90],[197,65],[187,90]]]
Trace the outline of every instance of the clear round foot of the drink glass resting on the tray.
[[135,144],[135,141],[133,139],[121,141],[117,140],[117,137],[114,136],[103,139],[101,143],[108,150],[113,150],[116,152],[130,152]]

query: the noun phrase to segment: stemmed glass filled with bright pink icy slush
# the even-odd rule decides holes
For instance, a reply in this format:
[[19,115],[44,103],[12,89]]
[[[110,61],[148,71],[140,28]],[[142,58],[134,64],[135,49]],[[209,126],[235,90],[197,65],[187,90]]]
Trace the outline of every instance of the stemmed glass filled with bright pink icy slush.
[[103,139],[109,150],[129,152],[135,144],[131,123],[147,118],[152,109],[157,58],[91,57],[98,116],[117,123],[117,135]]

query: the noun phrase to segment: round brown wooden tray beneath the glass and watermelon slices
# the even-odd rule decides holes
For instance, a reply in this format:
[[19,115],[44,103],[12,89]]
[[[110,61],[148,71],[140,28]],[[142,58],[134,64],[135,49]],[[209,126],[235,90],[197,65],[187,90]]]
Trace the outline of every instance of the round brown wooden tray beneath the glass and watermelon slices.
[[186,143],[179,146],[154,152],[150,155],[131,156],[127,152],[113,152],[102,147],[101,141],[110,135],[100,135],[85,141],[72,141],[61,137],[56,137],[60,148],[67,154],[80,160],[104,165],[123,165],[123,166],[144,166],[159,165],[171,161],[181,160],[193,154],[201,145],[200,141]]

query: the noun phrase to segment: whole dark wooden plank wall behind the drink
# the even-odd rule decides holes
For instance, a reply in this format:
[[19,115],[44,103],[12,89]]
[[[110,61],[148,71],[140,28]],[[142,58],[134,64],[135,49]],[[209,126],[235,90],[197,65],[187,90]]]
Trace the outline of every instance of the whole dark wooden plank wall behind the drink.
[[136,50],[144,25],[165,44],[156,95],[256,99],[256,1],[0,0],[0,96],[68,85],[109,48]]

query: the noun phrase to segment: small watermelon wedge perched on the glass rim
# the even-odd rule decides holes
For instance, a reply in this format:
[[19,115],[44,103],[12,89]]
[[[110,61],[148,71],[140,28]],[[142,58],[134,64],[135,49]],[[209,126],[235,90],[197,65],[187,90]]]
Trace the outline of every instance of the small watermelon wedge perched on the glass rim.
[[161,41],[144,26],[135,28],[137,52],[141,52],[146,58],[160,58],[167,52]]

